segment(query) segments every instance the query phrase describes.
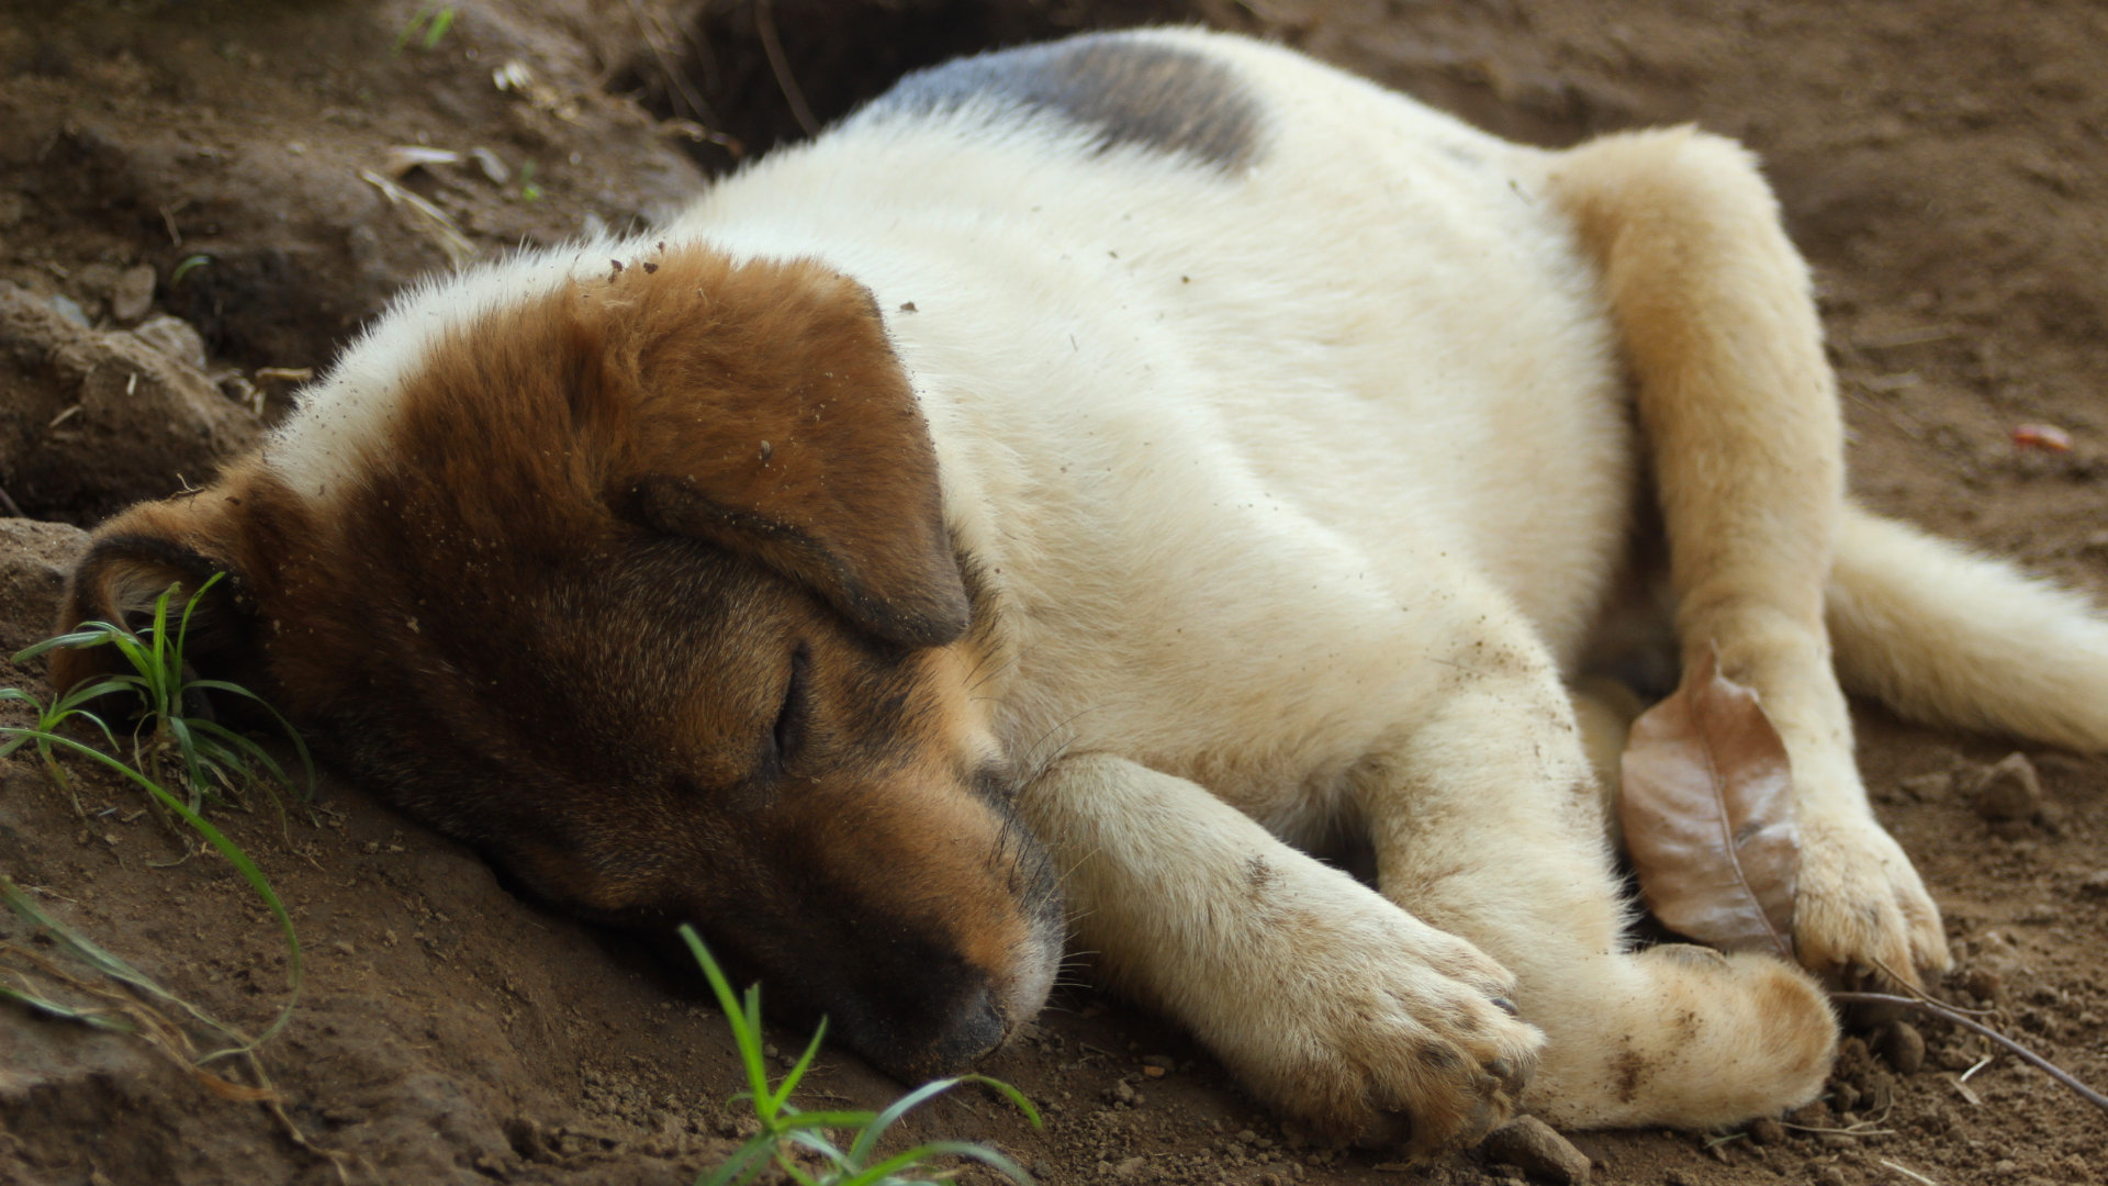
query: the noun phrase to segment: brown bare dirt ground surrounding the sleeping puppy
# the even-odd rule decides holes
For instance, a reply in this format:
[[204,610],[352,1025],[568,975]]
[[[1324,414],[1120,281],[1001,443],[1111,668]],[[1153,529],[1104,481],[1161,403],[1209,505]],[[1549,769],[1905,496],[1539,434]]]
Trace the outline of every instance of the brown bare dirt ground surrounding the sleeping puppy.
[[[424,32],[451,15],[436,46]],[[417,25],[419,13],[426,17]],[[0,4],[0,646],[42,633],[72,525],[255,437],[388,291],[449,260],[666,211],[742,152],[911,65],[1100,23],[1273,36],[1520,139],[1695,120],[1762,154],[1811,255],[1872,506],[2108,595],[2108,8],[2091,0],[13,0]],[[407,36],[405,36],[407,34]],[[767,34],[782,49],[772,68]],[[409,152],[424,150],[422,154]],[[434,154],[445,150],[457,156]],[[2066,452],[2015,443],[2047,424]],[[8,509],[6,502],[15,506]],[[30,523],[27,519],[42,519]],[[42,665],[0,684],[44,694]],[[17,711],[8,720],[21,720]],[[2011,745],[1861,711],[1882,819],[1946,910],[1948,994],[2108,1083],[2108,762],[2030,751],[2045,806],[1988,823]],[[84,817],[0,764],[0,874],[188,1000],[261,1028],[287,956],[259,901],[110,781]],[[228,815],[306,943],[266,1047],[354,1182],[685,1182],[742,1133],[723,1021],[626,941],[325,783]],[[25,943],[23,926],[0,935]],[[2108,1182],[2108,1118],[1920,1024],[1847,1042],[1826,1104],[1745,1133],[1577,1133],[1608,1184]],[[797,1045],[776,1034],[784,1049]],[[1868,1045],[1882,1053],[1870,1055]],[[911,1123],[1043,1182],[1486,1182],[1309,1148],[1187,1038],[1088,990]],[[898,1091],[828,1053],[807,1104]],[[0,1007],[0,1182],[335,1182],[257,1104],[137,1038]],[[968,1180],[987,1180],[968,1173]]]

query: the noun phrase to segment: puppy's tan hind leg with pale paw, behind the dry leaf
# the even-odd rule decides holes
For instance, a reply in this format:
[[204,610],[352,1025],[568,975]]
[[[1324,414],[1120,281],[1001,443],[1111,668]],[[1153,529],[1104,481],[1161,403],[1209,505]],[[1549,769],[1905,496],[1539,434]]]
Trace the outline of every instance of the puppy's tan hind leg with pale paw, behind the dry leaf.
[[1823,587],[1844,506],[1836,380],[1807,266],[1750,156],[1691,129],[1549,158],[1636,384],[1670,536],[1676,633],[1754,688],[1800,806],[1794,945],[1821,973],[1946,969],[1939,912],[1874,821],[1832,669]]

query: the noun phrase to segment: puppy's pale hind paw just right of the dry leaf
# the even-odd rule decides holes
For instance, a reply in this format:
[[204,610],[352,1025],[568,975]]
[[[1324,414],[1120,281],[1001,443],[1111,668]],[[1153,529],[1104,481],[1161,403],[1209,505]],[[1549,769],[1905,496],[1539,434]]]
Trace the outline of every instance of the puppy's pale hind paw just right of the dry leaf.
[[1916,988],[1952,964],[1939,907],[1872,819],[1802,821],[1794,950],[1832,981],[1872,975]]

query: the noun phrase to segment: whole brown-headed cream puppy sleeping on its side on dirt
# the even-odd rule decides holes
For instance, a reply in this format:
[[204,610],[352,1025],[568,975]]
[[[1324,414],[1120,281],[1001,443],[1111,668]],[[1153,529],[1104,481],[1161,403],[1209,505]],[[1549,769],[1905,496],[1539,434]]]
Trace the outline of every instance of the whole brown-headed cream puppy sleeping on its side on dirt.
[[[2108,627],[1840,458],[1735,146],[1541,152],[1109,34],[407,293],[257,456],[105,523],[63,625],[223,572],[200,669],[902,1076],[1033,1017],[1067,931],[1332,1137],[1703,1127],[1809,1099],[1836,1026],[1809,971],[1625,937],[1568,692],[1621,589],[1785,739],[1813,973],[1948,967],[1840,675],[2108,743]],[[1374,884],[1307,855],[1343,840]]]

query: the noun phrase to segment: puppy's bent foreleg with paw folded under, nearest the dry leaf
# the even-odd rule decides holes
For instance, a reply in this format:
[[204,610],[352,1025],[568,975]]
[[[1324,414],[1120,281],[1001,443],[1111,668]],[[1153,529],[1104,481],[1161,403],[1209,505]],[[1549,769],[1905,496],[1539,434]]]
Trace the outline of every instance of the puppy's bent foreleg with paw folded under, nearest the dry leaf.
[[1771,956],[1625,950],[1604,804],[1556,665],[1490,595],[1455,604],[1452,650],[1431,656],[1448,686],[1400,713],[1355,791],[1385,897],[1516,973],[1522,1017],[1545,1030],[1528,1110],[1710,1127],[1813,1097],[1836,1042],[1819,988]]

